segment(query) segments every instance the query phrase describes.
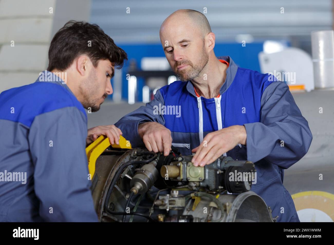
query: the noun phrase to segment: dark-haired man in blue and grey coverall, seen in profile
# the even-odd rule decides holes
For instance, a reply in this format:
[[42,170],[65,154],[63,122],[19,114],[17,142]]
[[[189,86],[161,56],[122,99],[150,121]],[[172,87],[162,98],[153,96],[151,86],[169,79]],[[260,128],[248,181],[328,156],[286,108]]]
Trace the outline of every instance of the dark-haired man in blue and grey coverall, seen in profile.
[[85,148],[114,125],[87,132],[127,54],[98,25],[69,21],[53,37],[35,83],[0,94],[0,221],[98,221]]

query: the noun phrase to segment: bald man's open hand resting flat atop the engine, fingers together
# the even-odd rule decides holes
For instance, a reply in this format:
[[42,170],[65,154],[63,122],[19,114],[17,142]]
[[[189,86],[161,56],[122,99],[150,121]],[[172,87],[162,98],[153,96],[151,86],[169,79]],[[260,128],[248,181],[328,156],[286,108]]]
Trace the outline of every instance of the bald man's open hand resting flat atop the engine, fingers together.
[[208,133],[203,142],[192,152],[196,152],[191,162],[194,166],[204,167],[218,159],[225,152],[233,149],[237,144],[246,145],[246,129],[244,126],[234,125]]

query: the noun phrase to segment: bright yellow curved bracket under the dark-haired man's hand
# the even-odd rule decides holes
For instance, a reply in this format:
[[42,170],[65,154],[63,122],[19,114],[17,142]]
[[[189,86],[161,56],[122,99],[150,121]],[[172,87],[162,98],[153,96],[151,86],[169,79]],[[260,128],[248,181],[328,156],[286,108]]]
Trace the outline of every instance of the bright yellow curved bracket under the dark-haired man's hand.
[[[113,148],[119,149],[131,149],[130,141],[126,140],[122,135],[119,140],[120,144],[113,144]],[[91,174],[91,180],[93,179],[95,173],[95,164],[98,157],[110,146],[110,141],[107,136],[101,135],[92,144],[86,148],[86,155],[88,159],[88,170]]]

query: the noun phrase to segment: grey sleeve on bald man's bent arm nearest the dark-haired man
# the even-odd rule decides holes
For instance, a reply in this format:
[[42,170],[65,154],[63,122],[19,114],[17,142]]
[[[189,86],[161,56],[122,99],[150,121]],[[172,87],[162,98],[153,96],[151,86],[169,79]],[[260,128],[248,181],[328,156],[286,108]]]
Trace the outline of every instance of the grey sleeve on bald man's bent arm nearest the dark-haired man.
[[155,108],[164,105],[164,98],[160,93],[160,89],[154,95],[151,102],[146,103],[146,106],[141,106],[137,110],[130,112],[122,117],[115,126],[121,129],[123,137],[129,140],[132,147],[145,147],[142,139],[138,134],[138,124],[143,122],[158,122],[165,125],[163,115],[156,113]]

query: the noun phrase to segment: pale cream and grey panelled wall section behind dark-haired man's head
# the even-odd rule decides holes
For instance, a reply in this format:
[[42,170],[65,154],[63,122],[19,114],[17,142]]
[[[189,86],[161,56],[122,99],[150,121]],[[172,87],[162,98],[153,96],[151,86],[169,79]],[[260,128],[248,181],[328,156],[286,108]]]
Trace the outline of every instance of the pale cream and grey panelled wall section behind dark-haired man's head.
[[88,21],[90,0],[0,0],[0,92],[33,83],[48,65],[53,35]]

